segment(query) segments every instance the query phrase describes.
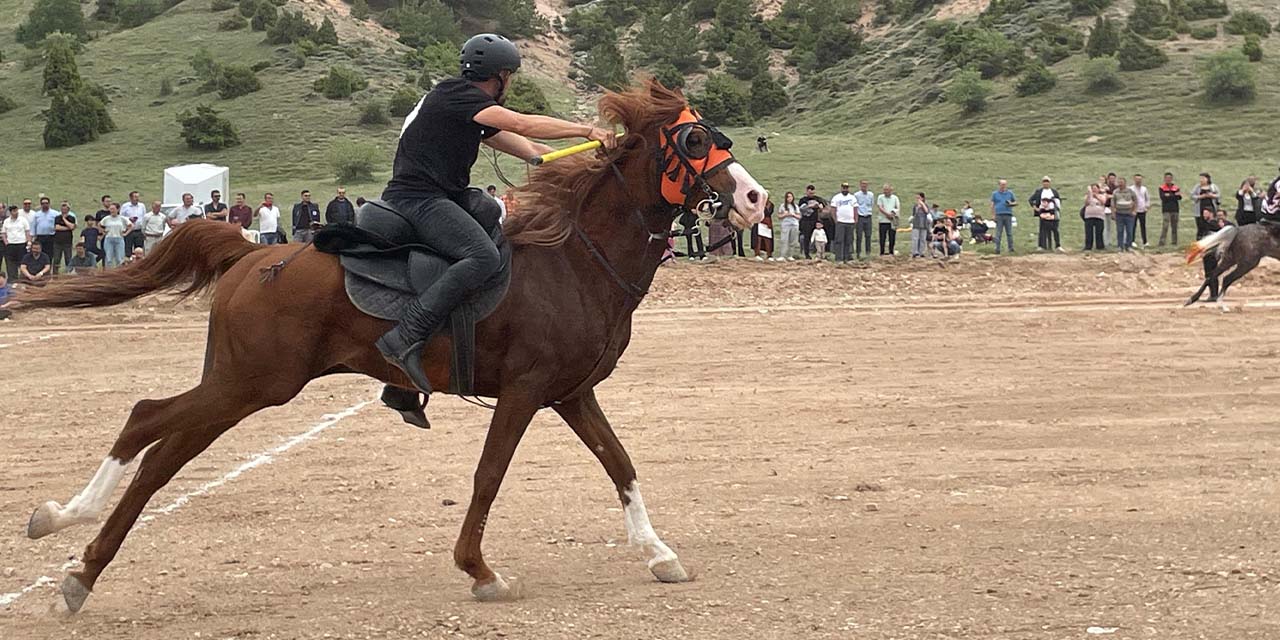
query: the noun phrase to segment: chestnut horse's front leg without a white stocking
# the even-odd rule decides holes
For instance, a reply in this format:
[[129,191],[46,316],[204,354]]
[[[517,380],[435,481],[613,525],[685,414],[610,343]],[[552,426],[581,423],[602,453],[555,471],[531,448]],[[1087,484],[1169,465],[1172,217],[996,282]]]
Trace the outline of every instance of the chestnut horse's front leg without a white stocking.
[[489,424],[484,451],[476,465],[471,504],[467,507],[467,517],[462,522],[462,532],[453,547],[453,562],[475,580],[471,585],[471,594],[477,600],[494,602],[520,598],[518,590],[512,589],[500,575],[485,563],[480,541],[484,539],[489,508],[498,497],[498,489],[507,475],[507,467],[511,466],[511,457],[516,453],[516,445],[524,438],[525,429],[538,408],[538,402],[530,398],[499,396],[498,408]]

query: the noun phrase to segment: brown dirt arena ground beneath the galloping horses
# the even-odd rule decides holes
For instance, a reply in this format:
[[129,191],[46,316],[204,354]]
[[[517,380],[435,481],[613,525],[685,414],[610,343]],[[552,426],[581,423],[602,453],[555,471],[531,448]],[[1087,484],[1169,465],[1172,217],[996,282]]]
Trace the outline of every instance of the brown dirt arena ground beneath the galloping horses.
[[1196,280],[1175,256],[664,268],[600,397],[696,580],[652,579],[544,412],[489,521],[506,604],[451,557],[488,412],[438,396],[420,431],[337,376],[192,462],[52,614],[41,577],[96,525],[32,541],[31,509],[192,384],[204,315],[0,323],[0,637],[1280,637],[1280,265],[1226,314],[1178,306]]

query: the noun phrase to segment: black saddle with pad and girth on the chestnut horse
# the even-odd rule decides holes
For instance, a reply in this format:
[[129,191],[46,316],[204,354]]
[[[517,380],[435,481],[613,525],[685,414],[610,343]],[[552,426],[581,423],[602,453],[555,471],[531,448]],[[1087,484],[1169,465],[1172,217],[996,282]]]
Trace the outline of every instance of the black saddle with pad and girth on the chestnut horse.
[[[488,205],[475,202],[476,209]],[[444,328],[453,343],[448,393],[458,396],[475,394],[475,325],[498,307],[511,284],[511,243],[503,237],[497,215],[466,209],[493,238],[502,262],[476,293],[453,310]],[[493,204],[493,210],[497,209]],[[404,305],[430,288],[451,265],[449,259],[420,243],[408,219],[380,200],[366,201],[356,211],[355,224],[325,227],[314,243],[317,250],[339,256],[351,303],[383,320],[398,320]]]

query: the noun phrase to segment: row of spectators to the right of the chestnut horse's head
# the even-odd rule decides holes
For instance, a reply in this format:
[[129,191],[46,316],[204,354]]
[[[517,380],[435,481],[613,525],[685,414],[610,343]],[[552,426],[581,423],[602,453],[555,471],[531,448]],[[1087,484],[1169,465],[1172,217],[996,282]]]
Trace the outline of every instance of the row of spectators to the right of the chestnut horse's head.
[[[1197,184],[1184,196],[1183,188],[1171,173],[1165,173],[1152,193],[1142,174],[1132,178],[1108,173],[1083,189],[1079,219],[1084,228],[1082,251],[1106,251],[1108,244],[1120,252],[1149,247],[1147,214],[1160,207],[1160,238],[1157,247],[1171,242],[1178,246],[1178,223],[1184,197],[1194,214],[1197,239],[1228,224],[1254,221],[1280,221],[1280,177],[1270,187],[1257,177],[1243,180],[1235,191],[1235,220],[1224,209],[1222,192],[1208,173],[1197,177]],[[904,196],[905,197],[905,196]],[[1046,175],[1027,200],[1029,215],[1036,220],[1037,251],[1066,252],[1062,247],[1062,220],[1068,210],[1068,197]],[[909,212],[904,212],[902,200],[892,184],[884,184],[879,193],[869,188],[868,180],[859,182],[856,191],[842,183],[840,191],[824,198],[815,186],[805,187],[804,196],[786,192],[782,202],[772,200],[765,207],[764,220],[750,229],[750,244],[742,230],[731,232],[724,225],[700,220],[686,212],[676,220],[673,238],[685,238],[685,251],[672,244],[672,256],[689,260],[712,260],[717,256],[748,257],[760,261],[827,260],[837,265],[854,260],[872,259],[872,239],[876,232],[878,255],[897,255],[897,233],[910,233],[910,256],[956,257],[964,246],[991,243],[996,255],[1014,248],[1014,229],[1018,227],[1016,210],[1021,205],[1009,187],[998,180],[984,206],[986,218],[972,201],[959,207],[942,209],[923,193],[910,198]],[[1152,221],[1155,223],[1155,220]],[[703,242],[707,224],[708,244]],[[873,227],[874,224],[874,227]],[[777,227],[777,229],[774,229]],[[968,238],[965,237],[968,232]],[[777,237],[774,237],[777,236]],[[748,253],[750,251],[750,253]]]

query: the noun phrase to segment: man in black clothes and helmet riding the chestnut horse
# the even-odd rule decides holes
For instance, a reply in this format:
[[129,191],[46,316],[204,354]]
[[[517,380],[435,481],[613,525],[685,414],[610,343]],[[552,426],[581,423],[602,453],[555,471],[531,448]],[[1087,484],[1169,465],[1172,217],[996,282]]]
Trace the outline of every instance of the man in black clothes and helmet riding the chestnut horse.
[[[410,220],[416,241],[453,264],[417,300],[404,306],[399,324],[378,339],[378,351],[417,388],[430,393],[422,348],[453,308],[500,266],[498,248],[477,216],[498,209],[479,189],[468,189],[471,165],[481,143],[521,160],[550,147],[529,138],[588,138],[605,148],[612,131],[545,115],[525,115],[503,105],[520,51],[494,33],[462,45],[461,77],[442,81],[404,118],[392,179],[383,200]],[[492,215],[493,223],[497,215]]]

